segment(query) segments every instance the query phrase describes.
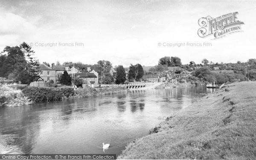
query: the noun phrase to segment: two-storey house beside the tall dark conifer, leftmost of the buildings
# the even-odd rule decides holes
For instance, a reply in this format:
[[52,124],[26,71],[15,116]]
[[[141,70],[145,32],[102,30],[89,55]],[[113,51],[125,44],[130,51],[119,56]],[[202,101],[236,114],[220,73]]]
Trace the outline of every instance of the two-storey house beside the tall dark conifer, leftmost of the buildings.
[[53,80],[56,82],[56,70],[53,70],[45,64],[39,64],[39,68],[37,70],[39,71],[38,76],[40,76],[44,81]]

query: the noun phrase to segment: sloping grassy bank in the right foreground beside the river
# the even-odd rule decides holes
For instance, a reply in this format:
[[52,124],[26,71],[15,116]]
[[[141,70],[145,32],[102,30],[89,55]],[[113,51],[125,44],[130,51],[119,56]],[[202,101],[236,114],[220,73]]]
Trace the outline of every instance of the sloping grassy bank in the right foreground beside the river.
[[130,143],[118,158],[256,159],[256,82],[228,84],[151,133]]

